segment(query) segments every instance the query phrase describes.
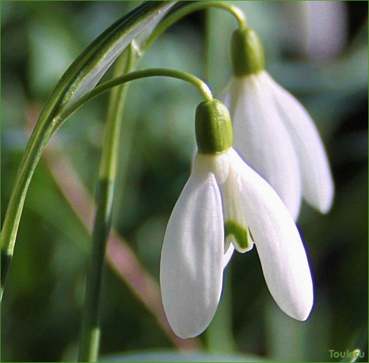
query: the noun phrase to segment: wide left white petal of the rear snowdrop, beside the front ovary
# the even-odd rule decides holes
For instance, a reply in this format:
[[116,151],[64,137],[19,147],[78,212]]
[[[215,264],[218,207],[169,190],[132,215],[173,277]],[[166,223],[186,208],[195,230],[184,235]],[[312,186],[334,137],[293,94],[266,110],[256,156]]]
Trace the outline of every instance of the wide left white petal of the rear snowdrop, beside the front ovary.
[[296,220],[301,205],[299,164],[263,74],[231,80],[234,148],[275,189]]

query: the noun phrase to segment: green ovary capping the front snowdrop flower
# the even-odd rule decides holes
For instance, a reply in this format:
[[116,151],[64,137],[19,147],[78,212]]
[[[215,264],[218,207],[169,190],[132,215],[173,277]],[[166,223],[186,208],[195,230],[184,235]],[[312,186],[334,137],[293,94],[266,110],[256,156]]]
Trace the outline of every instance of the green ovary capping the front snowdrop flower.
[[217,154],[232,147],[232,122],[219,100],[204,101],[196,108],[196,142],[199,153]]

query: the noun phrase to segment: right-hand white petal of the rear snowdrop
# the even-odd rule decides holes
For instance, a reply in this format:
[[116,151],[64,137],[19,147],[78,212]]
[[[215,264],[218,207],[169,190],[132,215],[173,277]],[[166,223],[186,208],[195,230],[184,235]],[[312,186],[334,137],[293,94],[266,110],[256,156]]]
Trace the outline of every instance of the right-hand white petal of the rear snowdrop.
[[303,196],[313,207],[326,213],[332,205],[334,185],[318,130],[296,98],[274,82],[269,75],[266,75],[266,78],[274,91],[277,107],[295,146]]

